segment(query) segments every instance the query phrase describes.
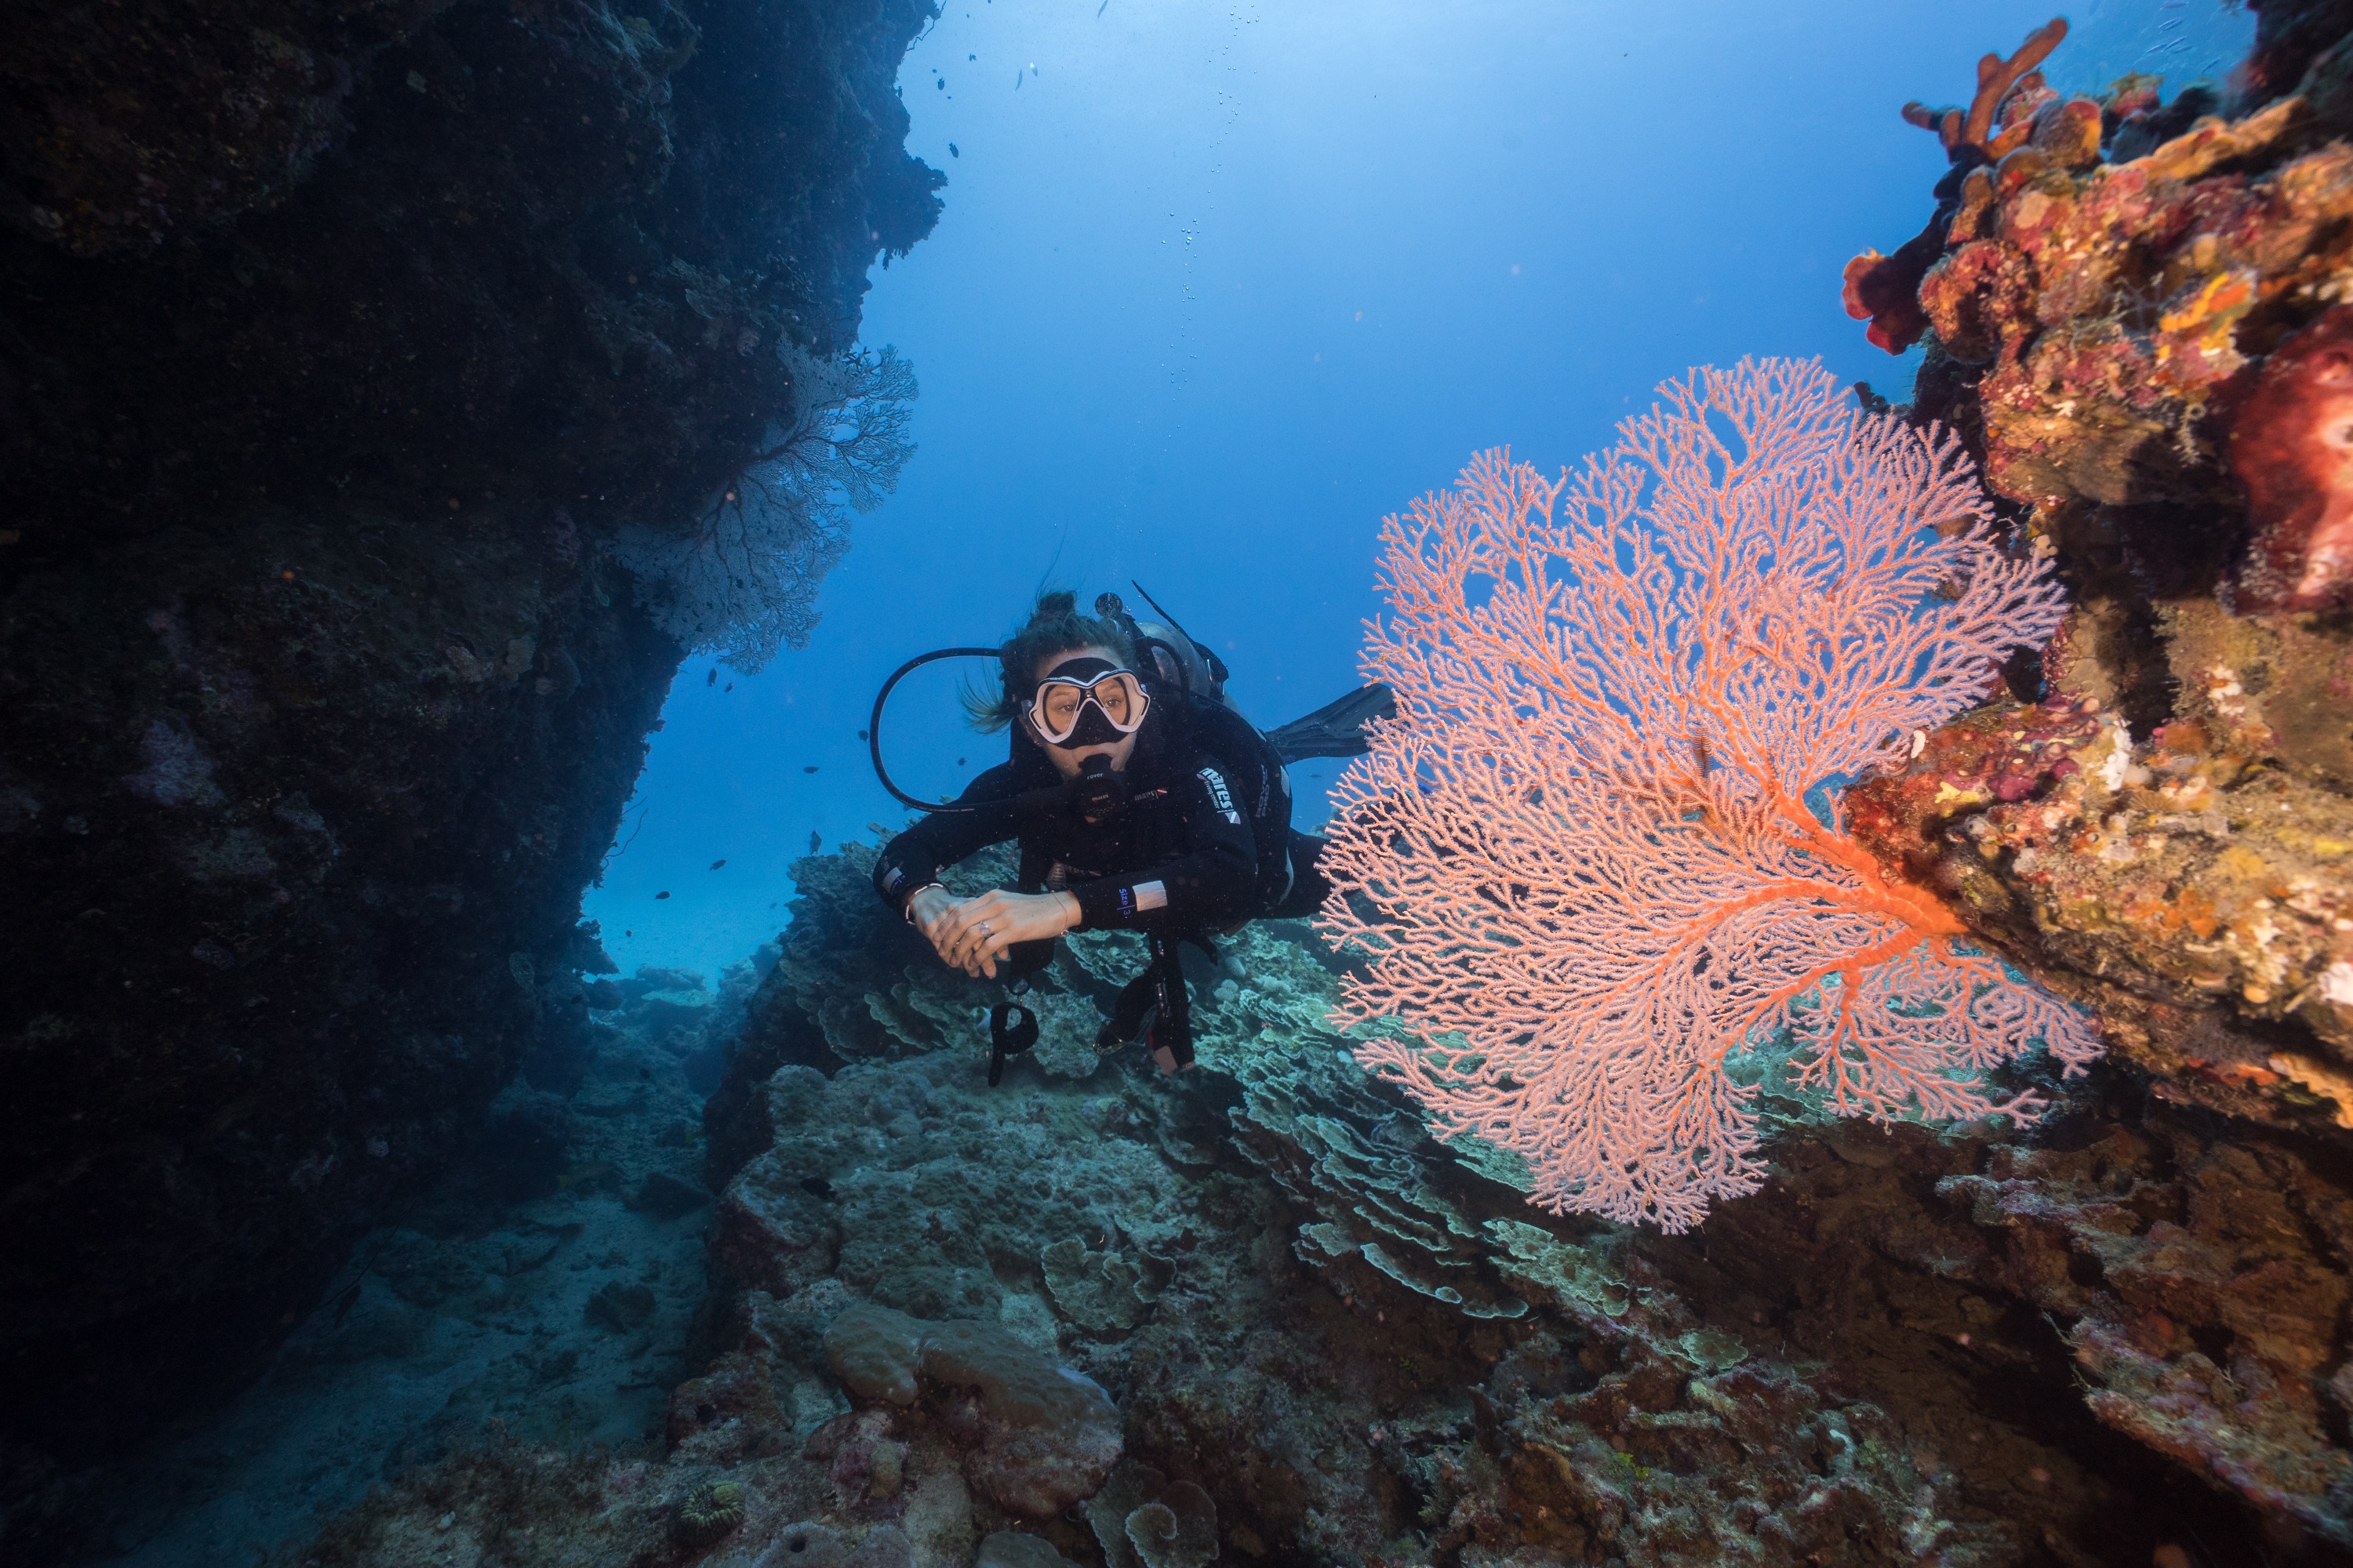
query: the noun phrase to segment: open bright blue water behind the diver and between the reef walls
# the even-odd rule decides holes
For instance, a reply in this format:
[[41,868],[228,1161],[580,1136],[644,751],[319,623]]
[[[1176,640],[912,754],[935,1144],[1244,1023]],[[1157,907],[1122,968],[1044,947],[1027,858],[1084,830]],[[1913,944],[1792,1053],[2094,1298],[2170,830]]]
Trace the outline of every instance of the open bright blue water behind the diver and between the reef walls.
[[[1473,449],[1574,463],[1661,378],[1751,353],[1904,395],[1913,364],[1840,308],[1944,172],[1897,108],[1965,101],[2049,14],[951,0],[901,71],[946,216],[866,306],[922,381],[920,451],[807,649],[682,670],[586,900],[612,957],[715,976],[774,936],[812,832],[906,816],[859,741],[880,679],[1000,639],[1040,583],[1139,578],[1278,724],[1355,684],[1379,520]],[[2221,73],[2252,35],[2214,0],[2071,16],[2059,87]],[[925,795],[1005,752],[951,675],[901,689],[889,741]],[[1334,776],[1294,771],[1304,818]]]

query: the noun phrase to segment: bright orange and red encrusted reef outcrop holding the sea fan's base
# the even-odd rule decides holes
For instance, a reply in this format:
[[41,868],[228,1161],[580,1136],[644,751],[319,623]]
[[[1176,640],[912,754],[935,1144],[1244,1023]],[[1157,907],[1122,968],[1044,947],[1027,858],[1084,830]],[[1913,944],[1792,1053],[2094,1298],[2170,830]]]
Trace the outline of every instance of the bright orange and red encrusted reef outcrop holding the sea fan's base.
[[1849,266],[1873,341],[1927,341],[1913,414],[1979,451],[2075,602],[2040,668],[1849,806],[2094,1009],[2160,1098],[2334,1140],[2353,1121],[2353,9],[2261,24],[2228,103],[1991,73],[1986,139],[1948,146],[1929,226]]

